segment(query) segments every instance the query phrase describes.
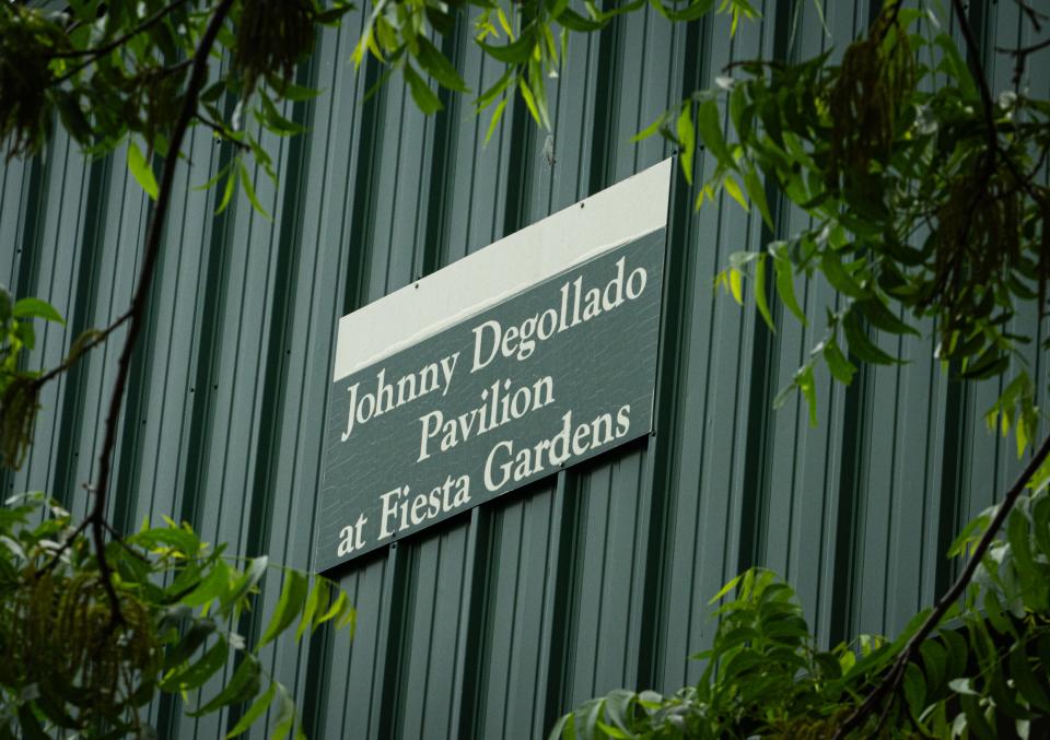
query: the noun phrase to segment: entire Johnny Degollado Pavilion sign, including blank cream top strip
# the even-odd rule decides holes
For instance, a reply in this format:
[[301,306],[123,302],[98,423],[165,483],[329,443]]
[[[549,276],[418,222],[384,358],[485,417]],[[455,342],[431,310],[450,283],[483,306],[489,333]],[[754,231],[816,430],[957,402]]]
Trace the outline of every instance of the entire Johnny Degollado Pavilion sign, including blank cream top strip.
[[343,317],[318,569],[652,430],[669,174],[668,161]]

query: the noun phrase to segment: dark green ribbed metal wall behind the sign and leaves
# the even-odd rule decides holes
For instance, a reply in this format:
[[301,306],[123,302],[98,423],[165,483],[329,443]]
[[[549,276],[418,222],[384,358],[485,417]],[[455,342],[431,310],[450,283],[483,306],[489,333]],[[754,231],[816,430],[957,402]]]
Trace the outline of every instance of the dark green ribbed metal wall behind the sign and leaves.
[[[971,4],[985,47],[1024,43],[1016,4]],[[325,91],[289,108],[308,133],[269,140],[280,189],[261,175],[256,188],[272,222],[240,198],[212,215],[218,193],[188,186],[231,152],[195,131],[135,357],[113,519],[170,514],[308,567],[336,319],[663,160],[658,138],[630,137],[684,91],[733,59],[841,48],[871,9],[826,0],[827,32],[808,1],[797,23],[789,2],[762,12],[735,38],[725,17],[673,26],[649,10],[574,37],[551,87],[552,163],[517,102],[488,146],[468,99],[425,118],[389,84],[362,103],[377,70],[348,63],[359,13],[301,72]],[[501,72],[468,34],[445,50],[482,89]],[[1030,69],[1050,69],[1046,54]],[[983,61],[1010,84],[1008,58]],[[712,291],[730,252],[759,246],[756,219],[721,202],[693,213],[678,178],[673,199],[654,435],[354,561],[340,578],[359,610],[353,641],[322,633],[268,654],[313,737],[538,737],[598,692],[675,689],[698,678],[687,656],[710,638],[709,597],[751,564],[788,576],[829,641],[892,632],[945,587],[940,553],[1018,468],[981,419],[994,384],[948,383],[926,342],[883,338],[913,362],[865,368],[849,388],[821,378],[817,427],[796,400],[773,412],[814,332],[789,320],[771,334]],[[0,165],[0,282],[69,318],[32,364],[55,365],[81,329],[126,308],[148,209],[119,153],[89,163],[58,137]],[[785,232],[800,218],[778,214]],[[833,294],[803,297],[819,326]],[[5,489],[83,510],[120,339],[47,387]],[[215,738],[228,721],[178,709],[152,708],[162,736]]]

